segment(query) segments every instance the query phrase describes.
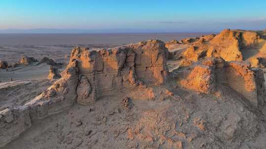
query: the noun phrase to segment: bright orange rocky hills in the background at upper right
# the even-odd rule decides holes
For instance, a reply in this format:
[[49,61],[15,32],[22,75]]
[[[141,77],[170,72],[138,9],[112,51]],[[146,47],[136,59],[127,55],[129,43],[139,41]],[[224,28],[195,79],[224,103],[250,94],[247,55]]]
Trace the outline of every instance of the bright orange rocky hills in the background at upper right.
[[259,31],[225,29],[218,35],[185,39],[181,43],[189,48],[182,52],[181,57],[193,62],[208,57],[222,57],[225,61],[246,60],[254,67],[261,67],[264,65],[261,62],[266,59],[266,40],[263,36]]

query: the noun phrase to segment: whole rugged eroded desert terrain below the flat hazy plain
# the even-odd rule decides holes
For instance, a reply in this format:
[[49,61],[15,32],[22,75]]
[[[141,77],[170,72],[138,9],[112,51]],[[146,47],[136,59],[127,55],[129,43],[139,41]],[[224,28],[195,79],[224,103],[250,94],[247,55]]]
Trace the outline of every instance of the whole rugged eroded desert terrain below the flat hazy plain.
[[0,45],[0,149],[266,149],[266,31],[76,44]]

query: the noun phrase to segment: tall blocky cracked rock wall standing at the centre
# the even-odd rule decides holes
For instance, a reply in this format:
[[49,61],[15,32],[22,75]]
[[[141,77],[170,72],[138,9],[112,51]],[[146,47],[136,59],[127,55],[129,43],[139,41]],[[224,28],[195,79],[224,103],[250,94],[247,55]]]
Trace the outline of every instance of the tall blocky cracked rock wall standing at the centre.
[[114,49],[74,48],[70,61],[77,60],[81,75],[77,101],[89,104],[101,96],[132,89],[139,83],[164,83],[166,56],[165,44],[159,40]]

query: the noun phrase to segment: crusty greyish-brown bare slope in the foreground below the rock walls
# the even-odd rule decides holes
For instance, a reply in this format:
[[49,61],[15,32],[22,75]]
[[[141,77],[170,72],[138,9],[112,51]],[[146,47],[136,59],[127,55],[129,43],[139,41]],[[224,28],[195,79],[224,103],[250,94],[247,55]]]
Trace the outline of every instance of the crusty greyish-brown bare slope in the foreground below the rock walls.
[[[263,126],[239,101],[179,88],[174,89],[175,92],[182,94],[165,101],[133,100],[130,110],[116,97],[99,99],[92,106],[76,104],[61,114],[34,122],[4,149],[263,147],[259,141],[265,139],[265,133],[259,134]],[[248,124],[241,122],[242,119],[248,119]]]

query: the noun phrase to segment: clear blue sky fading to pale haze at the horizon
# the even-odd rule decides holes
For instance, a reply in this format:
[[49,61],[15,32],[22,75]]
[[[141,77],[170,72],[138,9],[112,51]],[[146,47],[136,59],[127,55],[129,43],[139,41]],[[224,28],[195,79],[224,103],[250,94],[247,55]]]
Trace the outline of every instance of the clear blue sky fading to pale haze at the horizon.
[[0,0],[1,32],[266,29],[266,0]]

